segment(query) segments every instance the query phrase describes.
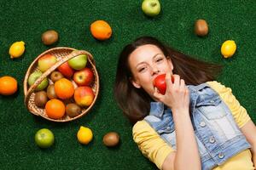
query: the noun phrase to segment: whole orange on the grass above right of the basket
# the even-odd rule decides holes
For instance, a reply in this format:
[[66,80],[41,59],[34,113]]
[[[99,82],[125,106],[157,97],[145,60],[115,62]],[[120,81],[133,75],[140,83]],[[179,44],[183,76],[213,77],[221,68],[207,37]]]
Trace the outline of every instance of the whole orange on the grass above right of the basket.
[[107,40],[112,35],[112,29],[105,20],[96,20],[90,25],[90,33],[98,40]]

